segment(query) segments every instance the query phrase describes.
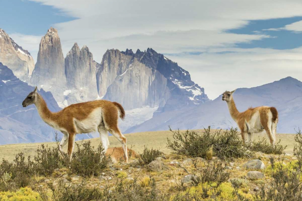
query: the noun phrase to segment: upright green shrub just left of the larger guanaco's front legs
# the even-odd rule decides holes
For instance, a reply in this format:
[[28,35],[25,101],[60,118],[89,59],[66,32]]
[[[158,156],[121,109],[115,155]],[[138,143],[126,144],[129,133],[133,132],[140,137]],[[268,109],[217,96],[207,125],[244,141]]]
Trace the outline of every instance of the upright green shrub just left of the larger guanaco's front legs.
[[58,148],[50,148],[43,144],[38,147],[37,155],[34,156],[35,169],[39,174],[49,175],[56,168],[63,166],[63,159]]

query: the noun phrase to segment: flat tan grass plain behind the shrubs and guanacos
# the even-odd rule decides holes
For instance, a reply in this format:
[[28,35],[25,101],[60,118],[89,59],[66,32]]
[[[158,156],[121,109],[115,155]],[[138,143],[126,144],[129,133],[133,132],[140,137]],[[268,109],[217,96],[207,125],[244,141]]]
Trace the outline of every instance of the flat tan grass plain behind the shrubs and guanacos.
[[[213,129],[214,130],[214,129]],[[198,133],[202,133],[204,130],[195,130]],[[59,137],[62,137],[63,134]],[[167,138],[172,140],[173,133],[169,130],[166,131],[148,131],[148,132],[141,132],[141,133],[130,133],[125,134],[127,138],[127,145],[133,145],[133,150],[135,152],[143,152],[144,145],[146,147],[153,147],[155,149],[160,149],[161,152],[165,154],[169,154],[171,152],[170,149],[166,148]],[[252,139],[257,139],[258,137],[264,137],[267,140],[266,134],[256,134],[252,137]],[[277,134],[277,141],[281,140],[281,145],[287,145],[285,149],[286,153],[292,153],[294,148],[294,137],[293,134]],[[100,138],[93,138],[90,139],[91,144],[94,147],[98,147],[99,143],[101,142]],[[120,142],[113,136],[109,136],[110,146],[109,147],[116,147],[121,146]],[[23,152],[25,157],[28,155],[34,156],[35,152],[43,143],[20,143],[20,144],[9,144],[9,145],[1,145],[0,146],[0,159],[4,158],[9,161],[12,161],[15,155],[18,152]],[[48,146],[56,146],[56,143],[49,143],[46,142],[44,145]],[[67,145],[64,147],[65,152],[67,151]],[[75,147],[76,149],[76,147]]]

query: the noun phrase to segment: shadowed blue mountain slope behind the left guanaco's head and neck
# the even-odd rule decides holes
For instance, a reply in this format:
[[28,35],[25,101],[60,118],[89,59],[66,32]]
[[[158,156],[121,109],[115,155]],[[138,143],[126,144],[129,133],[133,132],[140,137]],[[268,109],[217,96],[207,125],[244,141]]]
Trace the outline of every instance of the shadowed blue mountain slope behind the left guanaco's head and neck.
[[[0,144],[45,142],[54,140],[54,130],[43,122],[34,105],[23,108],[21,103],[34,90],[0,63]],[[38,92],[51,111],[59,111],[50,92]]]

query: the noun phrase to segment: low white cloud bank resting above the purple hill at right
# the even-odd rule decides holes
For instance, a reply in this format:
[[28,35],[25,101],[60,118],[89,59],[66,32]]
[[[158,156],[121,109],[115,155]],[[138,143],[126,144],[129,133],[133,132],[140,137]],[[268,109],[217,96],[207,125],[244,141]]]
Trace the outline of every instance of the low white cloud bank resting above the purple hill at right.
[[[220,54],[221,51],[229,53]],[[178,54],[167,58],[178,62],[191,79],[205,88],[210,99],[225,90],[254,87],[294,77],[302,80],[302,47],[291,50],[212,48],[199,55]]]

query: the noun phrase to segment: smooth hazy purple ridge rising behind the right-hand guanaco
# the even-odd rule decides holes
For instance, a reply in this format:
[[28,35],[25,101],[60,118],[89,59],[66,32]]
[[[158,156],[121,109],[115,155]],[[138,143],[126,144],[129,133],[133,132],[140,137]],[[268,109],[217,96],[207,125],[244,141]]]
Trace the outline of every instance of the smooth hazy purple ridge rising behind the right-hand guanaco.
[[[302,126],[302,82],[297,79],[286,77],[262,86],[239,88],[233,98],[239,111],[245,111],[250,106],[276,107],[279,113],[278,133],[295,133],[295,129]],[[237,127],[230,117],[226,102],[219,96],[190,110],[181,108],[153,115],[153,118],[128,129],[126,133],[167,130],[169,125],[172,129],[200,129],[209,125],[218,129]]]

